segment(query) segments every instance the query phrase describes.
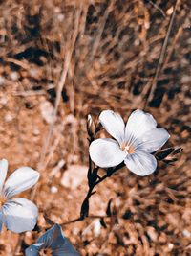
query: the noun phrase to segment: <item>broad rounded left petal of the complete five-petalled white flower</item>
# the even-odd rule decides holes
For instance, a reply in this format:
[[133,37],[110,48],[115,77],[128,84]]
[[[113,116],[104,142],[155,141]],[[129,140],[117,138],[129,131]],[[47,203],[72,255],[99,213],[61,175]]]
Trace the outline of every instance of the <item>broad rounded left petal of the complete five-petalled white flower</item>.
[[89,152],[93,162],[102,168],[117,166],[126,156],[126,153],[120,150],[117,141],[113,139],[97,139],[93,141]]

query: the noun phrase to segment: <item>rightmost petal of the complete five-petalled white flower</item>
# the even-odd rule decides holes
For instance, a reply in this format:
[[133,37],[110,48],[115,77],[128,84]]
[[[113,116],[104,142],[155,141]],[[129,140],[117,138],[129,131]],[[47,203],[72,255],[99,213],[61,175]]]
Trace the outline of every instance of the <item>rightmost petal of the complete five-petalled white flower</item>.
[[158,151],[169,137],[170,135],[164,128],[153,128],[145,132],[142,137],[138,139],[138,145],[135,145],[136,151]]

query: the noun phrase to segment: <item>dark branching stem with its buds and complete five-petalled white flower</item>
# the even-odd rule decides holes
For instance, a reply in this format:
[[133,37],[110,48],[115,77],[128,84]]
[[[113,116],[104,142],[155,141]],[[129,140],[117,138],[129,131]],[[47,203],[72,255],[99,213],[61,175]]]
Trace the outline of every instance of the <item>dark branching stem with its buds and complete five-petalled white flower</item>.
[[[96,133],[102,127],[117,141],[96,139]],[[82,202],[79,218],[67,223],[82,221],[89,216],[89,200],[96,193],[96,186],[114,175],[117,170],[127,166],[137,175],[150,175],[157,168],[157,160],[168,164],[177,160],[175,154],[180,153],[181,148],[171,147],[159,151],[159,148],[169,138],[169,134],[165,129],[156,127],[157,122],[153,116],[141,110],[136,110],[131,114],[126,127],[122,118],[111,110],[105,110],[100,114],[98,124],[95,124],[91,115],[88,116],[87,132],[90,154],[87,179],[89,189]],[[114,164],[114,158],[117,164]],[[98,175],[99,167],[105,170],[105,175]]]

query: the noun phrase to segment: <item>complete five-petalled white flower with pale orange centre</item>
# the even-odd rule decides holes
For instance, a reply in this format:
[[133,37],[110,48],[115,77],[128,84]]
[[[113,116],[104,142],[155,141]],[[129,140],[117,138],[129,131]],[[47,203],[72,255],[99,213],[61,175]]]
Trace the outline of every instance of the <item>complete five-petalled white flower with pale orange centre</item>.
[[116,140],[96,139],[91,143],[90,156],[97,166],[109,168],[124,161],[130,171],[140,176],[156,170],[157,160],[151,153],[159,150],[170,135],[165,129],[156,128],[157,122],[151,114],[136,110],[125,126],[119,114],[104,110],[99,121]]

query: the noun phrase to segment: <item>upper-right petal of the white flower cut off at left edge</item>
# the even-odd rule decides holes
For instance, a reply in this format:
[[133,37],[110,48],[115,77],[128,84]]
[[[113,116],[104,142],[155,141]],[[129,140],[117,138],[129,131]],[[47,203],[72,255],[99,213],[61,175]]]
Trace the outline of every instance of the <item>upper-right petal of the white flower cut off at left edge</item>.
[[30,189],[39,178],[39,173],[30,167],[21,167],[14,171],[7,179],[4,186],[4,194],[6,198],[11,198],[14,195]]

